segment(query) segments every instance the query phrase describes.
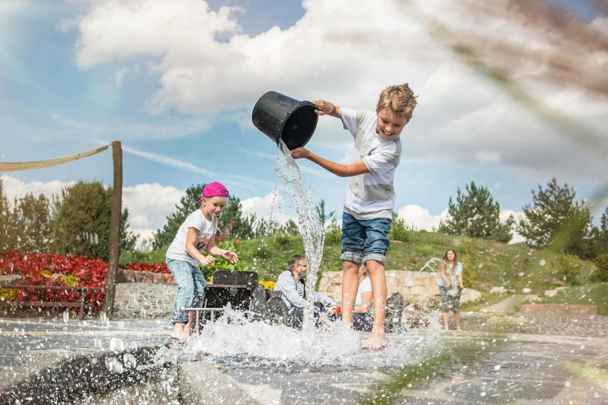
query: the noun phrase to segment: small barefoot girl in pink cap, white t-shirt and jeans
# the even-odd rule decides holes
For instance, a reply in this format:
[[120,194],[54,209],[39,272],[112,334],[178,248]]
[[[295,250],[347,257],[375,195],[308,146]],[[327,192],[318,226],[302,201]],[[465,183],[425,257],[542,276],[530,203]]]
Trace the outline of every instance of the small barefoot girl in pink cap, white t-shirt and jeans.
[[201,208],[188,215],[167,249],[167,267],[178,284],[173,305],[173,339],[185,339],[190,335],[188,321],[194,318],[193,313],[182,313],[179,308],[195,308],[201,302],[207,283],[198,264],[205,266],[215,262],[213,256],[203,256],[201,252],[207,251],[232,263],[238,262],[237,254],[215,246],[218,215],[226,206],[228,196],[228,190],[221,183],[204,186],[202,198],[197,202],[201,203]]

